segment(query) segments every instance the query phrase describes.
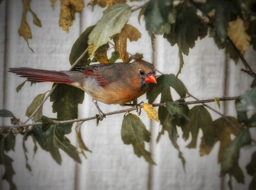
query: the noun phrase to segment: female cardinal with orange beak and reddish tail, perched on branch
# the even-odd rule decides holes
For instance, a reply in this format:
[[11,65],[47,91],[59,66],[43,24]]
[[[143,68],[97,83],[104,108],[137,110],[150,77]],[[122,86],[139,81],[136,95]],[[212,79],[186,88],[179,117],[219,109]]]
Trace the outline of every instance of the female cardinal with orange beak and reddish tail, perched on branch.
[[156,83],[154,65],[134,58],[132,63],[96,64],[76,67],[77,71],[48,71],[32,68],[10,68],[9,72],[36,82],[55,82],[75,86],[92,97],[100,120],[105,114],[97,101],[105,104],[124,104],[144,94]]

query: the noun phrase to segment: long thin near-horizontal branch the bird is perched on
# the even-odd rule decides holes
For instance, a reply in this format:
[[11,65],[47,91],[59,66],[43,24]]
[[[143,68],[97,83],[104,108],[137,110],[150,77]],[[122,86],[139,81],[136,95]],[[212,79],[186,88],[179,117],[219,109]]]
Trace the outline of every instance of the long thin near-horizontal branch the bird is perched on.
[[[190,95],[192,98],[194,98],[192,95]],[[194,98],[196,99],[196,98]],[[220,98],[220,101],[227,101],[227,100],[240,100],[240,96],[235,96],[235,97],[226,97],[226,98]],[[215,102],[214,99],[208,99],[208,100],[196,100],[196,101],[190,101],[190,102],[180,102],[180,106],[185,106],[188,104],[202,104],[202,103],[208,103],[208,102]],[[159,107],[159,106],[165,106],[165,103],[161,104],[151,104],[153,107]],[[204,105],[207,106],[207,105]],[[140,106],[143,108],[143,105]],[[131,112],[136,110],[136,106],[133,108],[125,109],[125,110],[118,110],[114,112],[108,112],[106,113],[106,116],[114,115],[114,114],[121,114],[121,113],[126,113],[126,112]],[[210,108],[212,109],[212,108]],[[221,113],[218,113],[222,115]],[[223,115],[222,115],[223,116]],[[225,117],[225,116],[224,116]],[[83,118],[83,119],[72,119],[72,120],[66,120],[66,121],[54,121],[53,123],[55,124],[63,124],[63,123],[75,123],[75,122],[80,122],[80,121],[89,121],[92,119],[97,119],[96,116],[91,116],[89,118]],[[30,124],[20,124],[20,125],[1,125],[0,127],[28,127],[28,126],[35,126],[35,125],[42,125],[42,122],[37,122],[37,123],[30,123]]]

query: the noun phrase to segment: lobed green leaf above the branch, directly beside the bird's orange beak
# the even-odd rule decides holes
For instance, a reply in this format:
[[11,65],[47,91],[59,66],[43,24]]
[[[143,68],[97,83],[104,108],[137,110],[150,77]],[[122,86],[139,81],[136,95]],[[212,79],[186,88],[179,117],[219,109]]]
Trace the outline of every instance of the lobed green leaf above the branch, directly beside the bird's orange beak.
[[[180,98],[185,98],[188,90],[183,82],[176,78],[174,74],[163,74],[157,78],[157,84],[153,84],[150,90],[148,90],[146,96],[148,103],[152,104],[156,100],[157,96],[161,94],[163,102],[171,102],[172,96],[170,87],[174,88],[180,95]],[[166,101],[165,101],[166,100]]]

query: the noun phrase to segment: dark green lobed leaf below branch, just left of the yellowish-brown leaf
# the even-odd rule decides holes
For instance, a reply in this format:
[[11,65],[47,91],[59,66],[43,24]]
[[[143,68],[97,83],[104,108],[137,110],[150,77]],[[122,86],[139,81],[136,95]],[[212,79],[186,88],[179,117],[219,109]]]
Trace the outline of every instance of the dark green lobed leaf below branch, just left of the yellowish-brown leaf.
[[203,131],[204,141],[207,145],[212,146],[215,137],[214,123],[206,108],[204,108],[204,106],[194,106],[191,110],[189,110],[188,118],[190,121],[187,121],[186,125],[182,128],[183,138],[185,140],[188,139],[190,132],[192,135],[192,140],[187,147],[196,148],[196,141],[200,128]]

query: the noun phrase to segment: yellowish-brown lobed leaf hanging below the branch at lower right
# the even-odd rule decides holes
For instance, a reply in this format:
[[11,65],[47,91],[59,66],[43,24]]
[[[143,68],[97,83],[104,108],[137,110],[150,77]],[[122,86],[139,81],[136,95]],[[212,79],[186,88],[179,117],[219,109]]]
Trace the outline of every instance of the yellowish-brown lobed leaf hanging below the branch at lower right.
[[[227,121],[228,119],[229,121]],[[226,117],[224,118],[218,118],[214,121],[214,129],[215,129],[215,140],[214,144],[218,141],[220,141],[220,149],[218,153],[218,163],[220,163],[223,153],[226,150],[227,146],[231,142],[231,137],[230,135],[238,135],[239,131],[233,127],[233,125],[230,123],[232,122],[236,127],[238,127],[240,130],[244,129],[241,123],[238,122],[236,118],[233,117]],[[200,155],[203,156],[205,154],[209,154],[210,151],[212,150],[213,146],[208,146],[205,141],[204,137],[202,137],[202,141],[200,144]]]

